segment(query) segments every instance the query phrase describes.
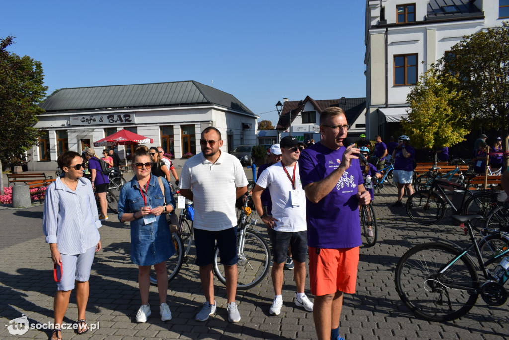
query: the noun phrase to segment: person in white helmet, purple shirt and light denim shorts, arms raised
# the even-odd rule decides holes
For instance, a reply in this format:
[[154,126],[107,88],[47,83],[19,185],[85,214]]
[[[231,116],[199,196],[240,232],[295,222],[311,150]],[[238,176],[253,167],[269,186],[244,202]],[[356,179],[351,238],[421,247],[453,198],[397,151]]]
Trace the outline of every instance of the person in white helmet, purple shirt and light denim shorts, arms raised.
[[392,151],[394,158],[393,181],[398,183],[398,201],[393,207],[402,207],[403,194],[405,190],[410,197],[413,194],[412,176],[413,176],[413,159],[415,156],[414,149],[410,146],[410,137],[400,136],[398,138],[398,146]]

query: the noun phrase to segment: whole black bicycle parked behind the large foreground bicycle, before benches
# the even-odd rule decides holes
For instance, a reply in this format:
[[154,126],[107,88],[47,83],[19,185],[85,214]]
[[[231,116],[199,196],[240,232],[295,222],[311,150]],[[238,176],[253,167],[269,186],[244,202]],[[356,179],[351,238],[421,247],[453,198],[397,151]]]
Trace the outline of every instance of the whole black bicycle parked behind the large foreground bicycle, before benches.
[[[436,178],[433,180],[429,190],[414,192],[408,197],[406,203],[406,211],[410,219],[424,225],[435,224],[444,217],[447,205],[450,206],[455,214],[479,214],[486,217],[492,208],[492,193],[488,191],[475,191],[472,193],[468,190],[468,183],[475,175],[467,175],[467,177],[466,185]],[[444,188],[464,192],[459,208],[456,208],[449,199]]]

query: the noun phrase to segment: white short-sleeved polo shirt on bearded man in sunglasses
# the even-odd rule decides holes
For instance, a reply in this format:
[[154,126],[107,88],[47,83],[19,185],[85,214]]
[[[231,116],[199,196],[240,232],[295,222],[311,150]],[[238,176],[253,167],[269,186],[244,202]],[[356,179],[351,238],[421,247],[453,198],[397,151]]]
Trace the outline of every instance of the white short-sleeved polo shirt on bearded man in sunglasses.
[[236,189],[247,185],[237,157],[221,151],[212,164],[203,152],[189,158],[182,168],[180,188],[191,189],[194,228],[220,231],[237,225]]

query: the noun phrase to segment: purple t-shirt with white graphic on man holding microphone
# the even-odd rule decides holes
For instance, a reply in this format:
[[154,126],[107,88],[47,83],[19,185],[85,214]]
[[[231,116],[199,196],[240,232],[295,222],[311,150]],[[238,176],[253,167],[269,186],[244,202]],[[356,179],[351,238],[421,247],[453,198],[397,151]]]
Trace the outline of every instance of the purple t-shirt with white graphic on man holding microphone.
[[[340,166],[345,149],[331,150],[321,143],[304,149],[299,157],[302,187],[323,180]],[[312,203],[306,197],[309,246],[351,248],[362,244],[357,200],[360,184],[364,184],[360,163],[353,159],[336,186],[320,202]]]

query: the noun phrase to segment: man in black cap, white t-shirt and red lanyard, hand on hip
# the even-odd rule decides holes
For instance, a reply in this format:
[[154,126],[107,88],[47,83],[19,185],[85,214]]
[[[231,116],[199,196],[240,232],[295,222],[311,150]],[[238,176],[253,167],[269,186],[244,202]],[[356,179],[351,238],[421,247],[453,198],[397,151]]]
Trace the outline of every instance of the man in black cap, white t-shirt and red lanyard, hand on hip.
[[[274,229],[272,285],[275,298],[270,307],[270,314],[275,315],[281,312],[283,305],[281,293],[288,246],[292,248],[292,259],[295,264],[293,274],[297,287],[295,304],[307,311],[313,311],[313,303],[304,294],[307,256],[306,199],[300,183],[297,162],[304,147],[303,143],[292,136],[282,138],[279,146],[282,152],[281,161],[265,169],[252,192],[252,200],[258,214],[270,228]],[[265,189],[270,189],[272,216],[263,210],[261,195]]]

